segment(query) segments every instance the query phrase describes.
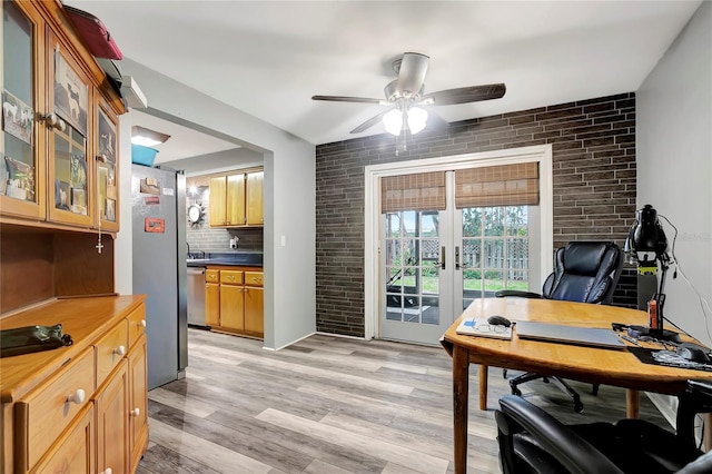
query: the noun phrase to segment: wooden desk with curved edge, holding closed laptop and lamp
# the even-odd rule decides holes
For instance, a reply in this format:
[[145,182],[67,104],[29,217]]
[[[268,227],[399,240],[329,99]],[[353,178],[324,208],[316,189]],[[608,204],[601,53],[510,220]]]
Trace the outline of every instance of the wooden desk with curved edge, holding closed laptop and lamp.
[[[636,325],[647,323],[644,312],[614,306],[512,297],[475,299],[441,339],[443,347],[453,357],[455,474],[466,472],[469,364],[624,387],[629,389],[629,401],[637,398],[637,391],[674,395],[685,388],[688,378],[712,378],[712,373],[702,371],[643,364],[627,350],[520,339],[516,337],[516,330],[512,340],[462,336],[455,333],[463,318],[486,318],[495,314],[511,320],[605,328],[610,328],[613,322]],[[486,377],[484,388],[486,391]]]

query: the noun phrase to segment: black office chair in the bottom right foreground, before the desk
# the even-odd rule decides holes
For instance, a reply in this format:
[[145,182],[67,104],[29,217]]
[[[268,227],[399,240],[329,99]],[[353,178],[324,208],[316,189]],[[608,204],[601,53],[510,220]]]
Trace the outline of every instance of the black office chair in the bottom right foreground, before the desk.
[[678,431],[642,419],[564,425],[530,402],[506,395],[495,411],[504,474],[712,472],[712,451],[695,446],[694,417],[712,412],[712,383],[689,381],[680,395]]

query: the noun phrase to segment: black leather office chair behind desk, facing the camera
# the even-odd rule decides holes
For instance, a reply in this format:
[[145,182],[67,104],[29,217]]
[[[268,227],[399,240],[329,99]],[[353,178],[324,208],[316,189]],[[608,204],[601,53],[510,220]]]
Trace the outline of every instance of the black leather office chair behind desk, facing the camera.
[[[505,289],[495,296],[520,296],[525,298],[562,299],[607,305],[623,269],[623,253],[610,241],[572,241],[554,254],[554,271],[546,278],[542,294]],[[504,371],[506,377],[506,369]],[[543,377],[534,373],[522,374],[510,381],[514,395],[522,395],[517,385],[536,378],[551,378],[574,401],[574,409],[583,411],[581,396],[560,377]],[[593,386],[593,394],[599,386]]]

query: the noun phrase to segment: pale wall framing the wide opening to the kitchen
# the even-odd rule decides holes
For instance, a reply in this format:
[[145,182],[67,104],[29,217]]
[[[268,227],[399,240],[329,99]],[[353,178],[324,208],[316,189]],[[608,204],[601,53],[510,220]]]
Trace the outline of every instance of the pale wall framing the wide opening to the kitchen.
[[[148,107],[225,134],[264,154],[265,161],[265,343],[280,348],[316,330],[316,148],[279,128],[125,58]],[[121,181],[130,177],[130,113],[121,117]],[[128,131],[127,131],[128,128]],[[127,170],[128,169],[128,170]],[[116,248],[117,289],[131,288],[130,199],[122,199]],[[128,216],[125,216],[126,213]],[[285,246],[281,246],[284,236]],[[128,253],[128,254],[127,254]],[[127,264],[128,260],[128,264]]]

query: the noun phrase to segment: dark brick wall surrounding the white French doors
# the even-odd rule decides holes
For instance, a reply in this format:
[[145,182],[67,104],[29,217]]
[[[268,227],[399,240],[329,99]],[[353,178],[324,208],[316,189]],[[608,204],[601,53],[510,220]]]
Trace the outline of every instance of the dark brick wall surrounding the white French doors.
[[[364,335],[364,167],[553,145],[554,248],[570,240],[620,246],[635,213],[635,95],[621,93],[452,124],[446,135],[379,135],[316,149],[317,330]],[[553,249],[552,249],[553,250]],[[613,304],[636,307],[625,268]]]

